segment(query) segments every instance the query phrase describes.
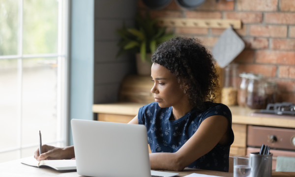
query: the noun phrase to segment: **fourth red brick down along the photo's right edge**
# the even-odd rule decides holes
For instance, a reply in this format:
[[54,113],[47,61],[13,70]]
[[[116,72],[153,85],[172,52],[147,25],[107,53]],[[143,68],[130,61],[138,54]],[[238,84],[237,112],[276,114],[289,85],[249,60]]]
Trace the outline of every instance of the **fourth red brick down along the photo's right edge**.
[[272,39],[270,48],[274,50],[295,51],[295,39]]

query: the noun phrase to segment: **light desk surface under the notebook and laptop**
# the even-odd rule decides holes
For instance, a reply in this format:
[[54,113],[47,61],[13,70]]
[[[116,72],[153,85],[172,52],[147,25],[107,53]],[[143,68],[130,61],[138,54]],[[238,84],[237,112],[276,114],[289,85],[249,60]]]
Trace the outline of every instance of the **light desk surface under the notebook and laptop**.
[[[36,168],[20,163],[21,160],[13,160],[9,162],[0,163],[0,177],[81,177],[75,171],[59,172],[53,169]],[[212,176],[233,177],[232,173],[185,169],[183,172],[177,172],[179,176],[197,173]],[[273,172],[272,177],[295,177],[295,172]]]

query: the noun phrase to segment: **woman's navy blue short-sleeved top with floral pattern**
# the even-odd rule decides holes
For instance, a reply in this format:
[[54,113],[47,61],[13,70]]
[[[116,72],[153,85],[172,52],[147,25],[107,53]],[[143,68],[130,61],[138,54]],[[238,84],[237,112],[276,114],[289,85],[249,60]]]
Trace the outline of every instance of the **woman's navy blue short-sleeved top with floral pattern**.
[[[203,120],[210,116],[222,115],[229,120],[230,142],[226,146],[217,144],[188,167],[204,170],[229,170],[229,152],[234,142],[232,114],[230,109],[221,103],[206,102],[208,109],[198,112],[193,109],[177,120],[169,120],[172,107],[161,108],[157,102],[139,109],[138,123],[145,124],[148,131],[148,144],[151,152],[176,152],[197,131]],[[196,149],[198,150],[198,149]]]

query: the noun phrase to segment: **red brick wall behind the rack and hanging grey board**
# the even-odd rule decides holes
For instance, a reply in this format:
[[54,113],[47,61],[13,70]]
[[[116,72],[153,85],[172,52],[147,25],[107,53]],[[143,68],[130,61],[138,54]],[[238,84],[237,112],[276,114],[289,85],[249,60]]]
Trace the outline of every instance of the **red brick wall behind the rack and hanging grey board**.
[[[238,72],[265,75],[278,83],[280,102],[295,103],[295,0],[206,0],[201,6],[187,10],[173,0],[159,10],[148,9],[138,0],[140,11],[152,17],[240,19],[237,34],[244,40],[245,50],[233,62]],[[175,28],[177,35],[197,37],[211,49],[224,29]]]

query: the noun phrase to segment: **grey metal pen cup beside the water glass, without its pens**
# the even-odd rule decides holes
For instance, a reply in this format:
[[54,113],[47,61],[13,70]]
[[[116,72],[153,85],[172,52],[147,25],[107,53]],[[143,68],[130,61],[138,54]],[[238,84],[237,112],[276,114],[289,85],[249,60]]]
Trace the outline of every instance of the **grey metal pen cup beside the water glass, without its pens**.
[[259,152],[250,153],[252,177],[271,177],[272,153],[260,155]]

